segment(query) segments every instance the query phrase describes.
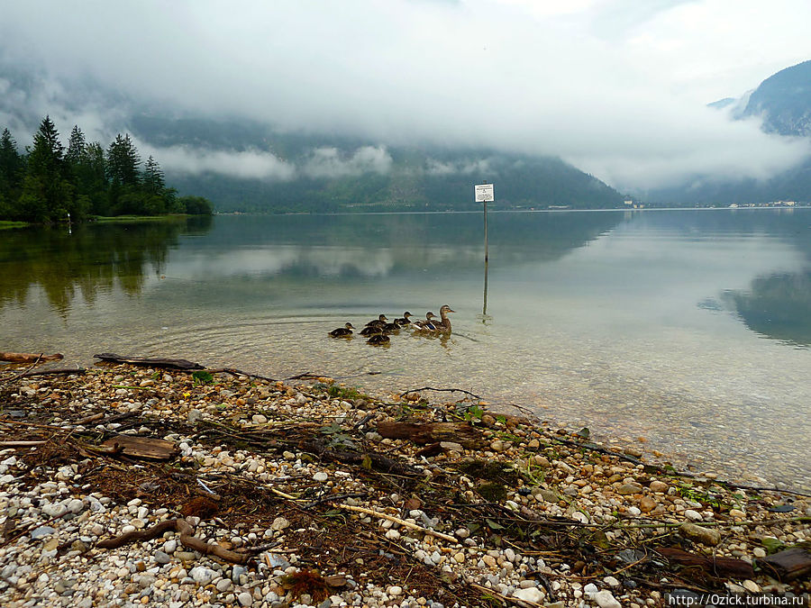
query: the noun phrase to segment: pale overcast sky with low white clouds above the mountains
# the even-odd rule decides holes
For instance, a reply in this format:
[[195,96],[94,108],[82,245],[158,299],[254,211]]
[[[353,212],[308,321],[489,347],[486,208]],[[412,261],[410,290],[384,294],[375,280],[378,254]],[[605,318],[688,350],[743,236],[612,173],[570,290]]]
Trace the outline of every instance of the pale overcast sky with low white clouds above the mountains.
[[706,104],[811,59],[808,23],[807,0],[0,0],[0,124],[24,106],[101,137],[145,105],[369,142],[306,167],[272,150],[145,150],[164,168],[275,179],[385,171],[402,144],[560,156],[625,190],[766,178],[809,141]]

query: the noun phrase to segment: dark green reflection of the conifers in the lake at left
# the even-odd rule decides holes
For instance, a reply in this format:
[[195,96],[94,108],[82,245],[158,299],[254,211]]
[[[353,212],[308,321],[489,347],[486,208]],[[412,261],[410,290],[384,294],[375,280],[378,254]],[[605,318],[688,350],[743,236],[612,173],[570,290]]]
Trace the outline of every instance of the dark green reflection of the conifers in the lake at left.
[[[200,224],[200,221],[204,224]],[[65,228],[0,233],[0,307],[23,304],[32,285],[41,286],[50,305],[63,316],[77,290],[88,303],[99,290],[117,285],[138,295],[149,266],[161,274],[169,248],[178,235],[205,231],[211,218],[178,222],[82,224],[72,234]]]

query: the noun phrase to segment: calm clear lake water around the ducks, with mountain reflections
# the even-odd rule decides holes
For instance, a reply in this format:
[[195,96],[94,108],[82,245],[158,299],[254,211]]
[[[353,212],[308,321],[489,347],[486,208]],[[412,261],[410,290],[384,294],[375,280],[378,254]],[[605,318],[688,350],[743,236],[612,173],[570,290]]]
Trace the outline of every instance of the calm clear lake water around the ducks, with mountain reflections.
[[[463,388],[811,488],[811,210],[490,213],[487,314],[482,234],[479,213],[2,231],[0,349]],[[326,335],[442,304],[449,340]]]

